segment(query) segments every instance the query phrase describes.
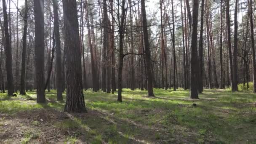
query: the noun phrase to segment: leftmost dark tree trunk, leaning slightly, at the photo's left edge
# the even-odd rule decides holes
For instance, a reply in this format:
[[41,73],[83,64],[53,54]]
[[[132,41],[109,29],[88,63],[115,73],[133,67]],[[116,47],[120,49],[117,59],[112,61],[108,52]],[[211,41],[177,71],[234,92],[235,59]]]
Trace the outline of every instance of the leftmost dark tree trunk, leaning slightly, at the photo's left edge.
[[7,11],[6,11],[6,4],[5,0],[3,0],[3,19],[4,19],[4,30],[5,30],[5,56],[6,56],[6,73],[7,73],[7,89],[8,89],[8,96],[12,96],[14,92],[14,85],[13,85],[13,69],[12,69],[12,53],[11,53],[11,43],[9,37],[9,30],[8,30],[8,18],[7,18]]

